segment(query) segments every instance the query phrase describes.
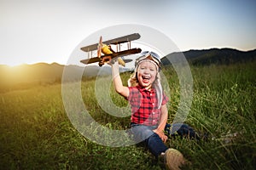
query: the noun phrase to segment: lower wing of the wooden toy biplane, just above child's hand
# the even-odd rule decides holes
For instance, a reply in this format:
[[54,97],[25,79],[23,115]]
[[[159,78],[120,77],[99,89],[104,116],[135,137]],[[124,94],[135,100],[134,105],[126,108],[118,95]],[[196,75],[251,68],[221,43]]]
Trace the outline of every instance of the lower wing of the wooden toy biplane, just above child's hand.
[[125,55],[138,54],[138,53],[141,53],[141,52],[142,52],[141,48],[132,48],[132,49],[124,50],[124,51],[119,51],[119,52],[113,53],[113,54],[102,55],[101,58],[93,57],[93,58],[90,58],[90,59],[83,59],[83,60],[80,60],[80,62],[87,65],[87,64],[90,64],[90,63],[102,62],[102,59],[104,59],[104,58],[111,57],[111,59],[113,59],[115,57],[123,57]]

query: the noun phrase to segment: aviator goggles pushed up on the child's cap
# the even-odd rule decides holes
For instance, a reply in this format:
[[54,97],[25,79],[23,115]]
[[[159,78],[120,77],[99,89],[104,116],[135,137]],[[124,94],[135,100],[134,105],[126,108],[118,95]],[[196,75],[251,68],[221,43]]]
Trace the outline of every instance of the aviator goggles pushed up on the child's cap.
[[137,65],[139,65],[139,63],[141,63],[141,61],[143,61],[144,59],[153,60],[154,63],[158,65],[160,68],[160,65],[161,65],[160,56],[152,51],[143,51],[142,53],[140,53],[137,59],[135,60],[135,67],[137,67]]

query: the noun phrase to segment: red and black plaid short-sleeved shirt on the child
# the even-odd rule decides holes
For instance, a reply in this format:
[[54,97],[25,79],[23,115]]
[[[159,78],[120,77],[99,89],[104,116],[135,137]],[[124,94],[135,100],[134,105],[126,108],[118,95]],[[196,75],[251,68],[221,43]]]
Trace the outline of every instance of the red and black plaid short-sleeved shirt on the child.
[[[161,111],[158,109],[157,97],[154,88],[148,91],[145,88],[129,87],[128,100],[131,105],[131,122],[154,126],[160,122]],[[161,105],[168,101],[166,94],[163,94]]]

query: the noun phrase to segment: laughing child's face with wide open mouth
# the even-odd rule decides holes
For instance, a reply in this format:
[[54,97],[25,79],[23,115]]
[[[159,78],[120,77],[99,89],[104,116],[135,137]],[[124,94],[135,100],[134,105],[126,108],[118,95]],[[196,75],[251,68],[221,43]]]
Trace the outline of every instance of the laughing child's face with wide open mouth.
[[142,62],[137,69],[137,79],[143,88],[151,88],[157,74],[156,65],[149,61]]

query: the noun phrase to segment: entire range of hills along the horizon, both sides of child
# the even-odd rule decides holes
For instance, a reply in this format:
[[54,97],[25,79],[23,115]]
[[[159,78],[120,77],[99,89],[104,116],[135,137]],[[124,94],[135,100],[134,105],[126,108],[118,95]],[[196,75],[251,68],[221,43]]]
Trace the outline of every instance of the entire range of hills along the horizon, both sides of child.
[[[211,48],[202,50],[189,50],[180,53],[166,55],[161,61],[163,65],[170,65],[170,59],[177,58],[180,54],[188,60],[189,65],[230,65],[237,62],[250,62],[255,60],[256,49],[243,52],[231,48]],[[6,89],[27,87],[35,84],[49,84],[61,82],[62,73],[68,70],[73,77],[78,73],[85,78],[106,76],[111,74],[111,68],[108,65],[99,67],[97,65],[59,65],[57,63],[46,64],[38,63],[34,65],[18,65],[10,67],[0,65],[0,91]],[[131,71],[131,69],[122,69],[121,71]]]

